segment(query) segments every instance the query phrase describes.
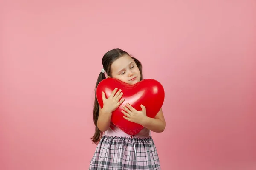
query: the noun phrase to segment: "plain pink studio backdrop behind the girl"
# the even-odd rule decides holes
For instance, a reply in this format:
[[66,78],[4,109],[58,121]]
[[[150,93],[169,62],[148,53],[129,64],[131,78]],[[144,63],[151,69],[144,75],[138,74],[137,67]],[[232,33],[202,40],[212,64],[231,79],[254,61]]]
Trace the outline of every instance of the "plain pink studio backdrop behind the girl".
[[163,170],[256,169],[256,1],[4,0],[0,169],[86,170],[101,59],[122,48],[166,91]]

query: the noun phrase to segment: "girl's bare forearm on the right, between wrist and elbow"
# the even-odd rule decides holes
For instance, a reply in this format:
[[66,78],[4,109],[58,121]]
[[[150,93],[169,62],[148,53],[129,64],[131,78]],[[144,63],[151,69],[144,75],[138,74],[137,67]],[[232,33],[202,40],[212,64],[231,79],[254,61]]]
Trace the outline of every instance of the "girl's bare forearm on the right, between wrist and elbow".
[[165,122],[157,118],[146,117],[141,125],[153,132],[163,132],[165,129]]

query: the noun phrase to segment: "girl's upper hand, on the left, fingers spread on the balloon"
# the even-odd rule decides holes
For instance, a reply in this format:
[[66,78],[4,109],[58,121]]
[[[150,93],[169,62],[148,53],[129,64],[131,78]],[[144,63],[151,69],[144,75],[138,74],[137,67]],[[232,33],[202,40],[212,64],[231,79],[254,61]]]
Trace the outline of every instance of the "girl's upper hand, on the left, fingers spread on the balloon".
[[[116,108],[119,107],[119,105],[122,104],[122,102],[124,102],[125,100],[121,99],[123,93],[121,92],[122,90],[119,89],[119,91],[117,91],[117,88],[115,88],[111,95],[106,98],[105,93],[102,91],[102,100],[103,100],[103,108],[102,110],[104,110],[107,113],[112,113],[114,110],[116,110]],[[119,101],[120,100],[120,101]]]

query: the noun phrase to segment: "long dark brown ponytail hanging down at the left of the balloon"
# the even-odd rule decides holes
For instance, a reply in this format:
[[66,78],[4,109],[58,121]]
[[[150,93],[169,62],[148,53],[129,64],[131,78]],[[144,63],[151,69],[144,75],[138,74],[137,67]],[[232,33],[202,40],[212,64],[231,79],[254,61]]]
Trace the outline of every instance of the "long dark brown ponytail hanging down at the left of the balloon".
[[98,117],[99,117],[99,102],[98,102],[97,96],[96,96],[96,89],[97,89],[97,86],[99,85],[99,82],[101,82],[105,78],[106,78],[105,74],[100,72],[97,82],[96,82],[96,86],[95,86],[95,99],[94,99],[94,107],[93,107],[93,122],[95,125],[95,133],[94,133],[94,136],[91,138],[91,140],[94,144],[98,144],[98,142],[100,141],[100,139],[102,137],[102,131],[100,131],[99,128],[97,127],[97,121],[98,121]]

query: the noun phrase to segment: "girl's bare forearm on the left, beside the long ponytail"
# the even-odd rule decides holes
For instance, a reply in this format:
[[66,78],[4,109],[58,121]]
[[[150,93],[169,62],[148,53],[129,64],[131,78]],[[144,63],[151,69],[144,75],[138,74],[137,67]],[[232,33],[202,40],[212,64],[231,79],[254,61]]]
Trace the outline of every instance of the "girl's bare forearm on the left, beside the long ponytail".
[[104,109],[99,112],[99,118],[97,121],[97,127],[99,128],[100,131],[105,132],[108,130],[110,126],[110,121],[111,121],[111,112],[107,112]]

